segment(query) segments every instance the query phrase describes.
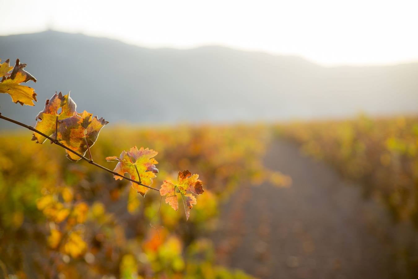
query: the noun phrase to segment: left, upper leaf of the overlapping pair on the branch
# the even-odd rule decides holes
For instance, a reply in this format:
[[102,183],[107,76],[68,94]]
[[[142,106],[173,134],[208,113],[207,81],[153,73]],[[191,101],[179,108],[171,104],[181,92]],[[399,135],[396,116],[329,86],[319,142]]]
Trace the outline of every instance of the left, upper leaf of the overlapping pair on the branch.
[[[58,113],[58,110],[61,108],[61,112]],[[57,95],[55,94],[51,97],[51,99],[47,99],[45,102],[45,108],[36,115],[35,120],[36,126],[35,128],[42,133],[51,136],[55,133],[56,129],[56,119],[58,116],[58,120],[62,120],[65,118],[69,118],[74,115],[76,111],[76,103],[71,99],[70,93],[67,95],[62,95],[61,92]],[[36,143],[44,143],[46,138],[41,136],[38,133],[33,133],[32,141],[36,141]]]

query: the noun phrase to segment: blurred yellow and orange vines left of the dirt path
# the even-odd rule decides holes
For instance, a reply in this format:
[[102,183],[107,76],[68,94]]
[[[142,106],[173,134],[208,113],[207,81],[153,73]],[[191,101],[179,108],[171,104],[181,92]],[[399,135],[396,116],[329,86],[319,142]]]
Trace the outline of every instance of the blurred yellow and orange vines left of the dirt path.
[[[217,266],[206,237],[219,203],[241,184],[288,183],[265,169],[269,141],[263,126],[105,128],[92,147],[95,162],[132,146],[158,151],[162,180],[179,170],[198,173],[204,195],[186,222],[158,192],[145,198],[127,181],[64,150],[36,144],[29,131],[0,136],[0,274],[16,278],[248,278]],[[161,203],[162,201],[162,203]],[[161,203],[161,206],[160,206]],[[0,276],[1,277],[1,276]]]

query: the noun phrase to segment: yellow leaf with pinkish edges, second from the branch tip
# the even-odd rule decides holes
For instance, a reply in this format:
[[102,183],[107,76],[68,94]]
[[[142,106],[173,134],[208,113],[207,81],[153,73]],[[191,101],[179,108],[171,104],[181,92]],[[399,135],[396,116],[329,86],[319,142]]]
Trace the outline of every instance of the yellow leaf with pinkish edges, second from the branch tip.
[[[138,149],[138,147],[135,146],[127,152],[122,151],[119,157],[110,156],[106,157],[106,160],[109,162],[118,162],[114,169],[118,174],[124,176],[125,173],[128,173],[131,179],[150,186],[153,183],[152,179],[155,177],[155,173],[158,172],[158,169],[155,167],[155,164],[158,164],[158,162],[153,158],[157,154],[158,152],[152,149],[144,149],[143,147]],[[122,177],[120,176],[113,176],[116,180],[122,180]],[[148,191],[147,187],[135,182],[131,182],[131,185],[143,196]]]

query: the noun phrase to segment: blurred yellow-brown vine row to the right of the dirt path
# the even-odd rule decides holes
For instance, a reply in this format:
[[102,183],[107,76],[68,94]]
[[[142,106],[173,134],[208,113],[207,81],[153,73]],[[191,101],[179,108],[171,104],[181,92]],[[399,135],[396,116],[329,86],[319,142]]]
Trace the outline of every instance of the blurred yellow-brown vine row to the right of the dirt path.
[[275,133],[296,141],[301,152],[330,164],[361,185],[365,198],[383,205],[383,215],[375,212],[367,225],[391,251],[400,277],[416,278],[418,117],[293,122],[276,125]]

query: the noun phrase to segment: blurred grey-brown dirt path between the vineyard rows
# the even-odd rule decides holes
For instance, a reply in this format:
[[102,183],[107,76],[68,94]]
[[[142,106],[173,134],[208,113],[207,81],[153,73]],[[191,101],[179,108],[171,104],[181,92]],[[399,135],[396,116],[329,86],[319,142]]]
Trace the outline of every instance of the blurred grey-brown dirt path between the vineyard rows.
[[377,237],[386,222],[380,206],[293,143],[273,143],[265,164],[293,185],[234,194],[213,236],[219,264],[260,278],[390,278],[393,262]]

